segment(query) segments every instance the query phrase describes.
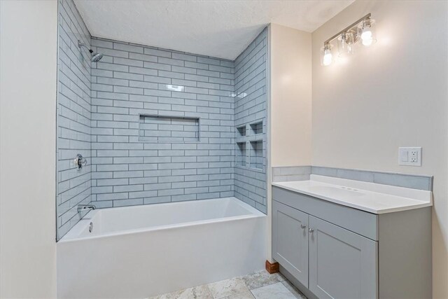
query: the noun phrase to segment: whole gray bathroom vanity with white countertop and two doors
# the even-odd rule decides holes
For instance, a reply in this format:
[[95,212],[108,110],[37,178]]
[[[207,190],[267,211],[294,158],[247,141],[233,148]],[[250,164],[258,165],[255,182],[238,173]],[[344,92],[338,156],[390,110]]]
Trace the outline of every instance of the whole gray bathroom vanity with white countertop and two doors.
[[272,200],[272,257],[307,297],[431,298],[430,191],[311,175]]

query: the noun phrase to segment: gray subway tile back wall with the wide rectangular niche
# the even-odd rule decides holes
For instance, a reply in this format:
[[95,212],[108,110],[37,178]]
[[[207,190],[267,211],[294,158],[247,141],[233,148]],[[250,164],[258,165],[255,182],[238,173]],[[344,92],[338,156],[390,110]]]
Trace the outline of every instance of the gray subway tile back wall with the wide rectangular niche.
[[[228,60],[92,38],[97,207],[234,196]],[[112,187],[112,188],[104,188]]]

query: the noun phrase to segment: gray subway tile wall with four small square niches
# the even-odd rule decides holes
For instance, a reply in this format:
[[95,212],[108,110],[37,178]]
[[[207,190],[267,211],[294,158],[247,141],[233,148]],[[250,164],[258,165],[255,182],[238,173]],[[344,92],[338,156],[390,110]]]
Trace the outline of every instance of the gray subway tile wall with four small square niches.
[[[267,29],[235,60],[235,197],[267,213]],[[245,133],[241,134],[241,127]],[[255,129],[255,130],[254,130]],[[243,129],[244,130],[244,129]],[[241,136],[244,135],[244,136]],[[241,144],[245,142],[246,145]],[[244,151],[241,151],[244,148]],[[241,155],[246,155],[242,158]],[[243,162],[244,161],[244,162]]]

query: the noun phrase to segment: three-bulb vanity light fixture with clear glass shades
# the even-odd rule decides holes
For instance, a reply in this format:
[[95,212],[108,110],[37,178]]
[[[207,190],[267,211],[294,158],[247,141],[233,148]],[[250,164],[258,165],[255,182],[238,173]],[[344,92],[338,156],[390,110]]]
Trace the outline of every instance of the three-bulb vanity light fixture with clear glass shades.
[[359,43],[362,43],[366,47],[375,43],[377,39],[374,34],[374,20],[370,18],[370,13],[334,36],[331,36],[330,39],[327,39],[323,43],[323,48],[321,48],[321,64],[325,67],[334,61],[335,53],[332,53],[333,46],[331,42],[335,39],[337,40],[337,54],[339,57],[355,53]]

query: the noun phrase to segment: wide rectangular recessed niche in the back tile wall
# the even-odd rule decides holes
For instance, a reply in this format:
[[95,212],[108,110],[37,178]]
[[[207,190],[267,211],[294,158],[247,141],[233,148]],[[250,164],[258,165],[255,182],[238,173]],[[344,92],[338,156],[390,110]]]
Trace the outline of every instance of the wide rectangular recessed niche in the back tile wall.
[[199,118],[176,116],[139,116],[139,141],[198,142]]

